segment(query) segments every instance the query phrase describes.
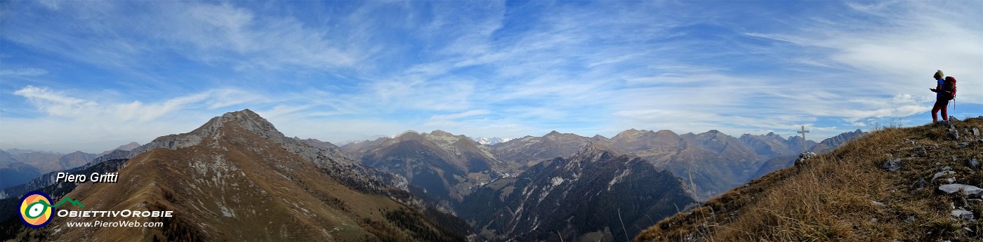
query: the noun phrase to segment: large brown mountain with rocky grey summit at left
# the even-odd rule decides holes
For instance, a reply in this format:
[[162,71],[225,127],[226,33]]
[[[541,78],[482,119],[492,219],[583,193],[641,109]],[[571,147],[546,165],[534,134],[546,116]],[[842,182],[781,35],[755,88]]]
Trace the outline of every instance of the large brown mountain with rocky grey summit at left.
[[[266,131],[266,132],[258,132]],[[196,133],[203,132],[203,133]],[[66,197],[81,211],[173,211],[168,218],[58,217],[49,238],[89,241],[455,241],[463,236],[424,218],[405,192],[381,183],[353,187],[330,165],[289,151],[252,111],[216,117],[189,134],[197,144],[131,158],[118,183],[86,183]],[[160,139],[158,139],[160,140]],[[303,149],[301,149],[303,150]],[[323,155],[323,154],[312,154]],[[339,164],[354,161],[338,162]],[[163,227],[70,227],[67,222],[162,221]],[[466,226],[466,225],[465,225]]]

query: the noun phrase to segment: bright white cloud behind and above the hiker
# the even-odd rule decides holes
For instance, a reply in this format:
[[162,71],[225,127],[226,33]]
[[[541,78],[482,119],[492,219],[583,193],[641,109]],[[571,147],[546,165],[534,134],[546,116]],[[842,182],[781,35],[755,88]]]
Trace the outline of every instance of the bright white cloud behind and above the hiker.
[[[818,16],[795,31],[748,33],[824,53],[813,60],[837,66],[868,84],[858,92],[931,95],[936,69],[967,80],[983,78],[981,7],[970,1],[845,3],[847,11]],[[973,24],[977,23],[977,24]],[[981,103],[983,86],[968,87],[963,101]],[[961,87],[960,87],[961,88]]]

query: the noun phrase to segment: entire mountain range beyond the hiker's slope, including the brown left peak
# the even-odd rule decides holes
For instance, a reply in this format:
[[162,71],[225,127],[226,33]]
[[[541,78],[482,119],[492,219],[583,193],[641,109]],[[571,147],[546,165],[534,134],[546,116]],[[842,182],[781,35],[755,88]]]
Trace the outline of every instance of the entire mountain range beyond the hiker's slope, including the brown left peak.
[[[805,144],[829,151],[862,134]],[[801,149],[794,138],[553,131],[484,145],[436,130],[339,148],[287,138],[246,109],[67,170],[119,172],[118,183],[66,186],[49,172],[0,193],[0,204],[41,190],[95,210],[181,214],[139,219],[163,227],[57,223],[0,231],[21,239],[621,241],[762,170],[786,166]],[[11,219],[0,217],[0,224],[16,224]]]

